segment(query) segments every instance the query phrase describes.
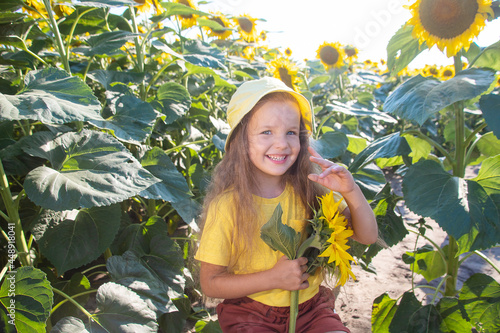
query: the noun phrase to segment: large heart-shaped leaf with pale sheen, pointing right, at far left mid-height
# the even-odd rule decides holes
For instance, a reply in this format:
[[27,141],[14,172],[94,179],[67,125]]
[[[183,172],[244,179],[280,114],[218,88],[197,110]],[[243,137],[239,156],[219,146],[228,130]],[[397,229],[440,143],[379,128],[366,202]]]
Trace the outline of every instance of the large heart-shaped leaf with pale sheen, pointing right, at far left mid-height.
[[52,166],[27,175],[26,194],[37,205],[56,211],[121,202],[160,181],[118,140],[101,132],[69,132],[53,140],[36,136],[23,150]]

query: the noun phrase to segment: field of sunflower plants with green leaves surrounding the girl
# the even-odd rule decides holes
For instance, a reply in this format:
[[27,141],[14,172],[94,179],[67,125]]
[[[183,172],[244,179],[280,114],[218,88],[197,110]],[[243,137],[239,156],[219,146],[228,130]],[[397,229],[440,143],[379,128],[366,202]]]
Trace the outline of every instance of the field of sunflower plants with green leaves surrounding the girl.
[[[220,332],[200,301],[197,218],[232,94],[274,76],[311,101],[311,144],[354,175],[384,243],[413,232],[432,244],[404,258],[441,279],[432,300],[380,295],[372,331],[499,332],[499,281],[478,273],[459,288],[457,272],[472,255],[500,272],[480,252],[500,240],[500,41],[473,43],[500,1],[408,10],[387,59],[360,62],[355,45],[326,41],[299,65],[266,46],[258,19],[193,0],[3,0],[3,331]],[[432,47],[449,66],[408,68]],[[403,177],[403,196],[387,170]],[[446,246],[425,235],[426,219]],[[351,245],[367,270],[382,250]]]

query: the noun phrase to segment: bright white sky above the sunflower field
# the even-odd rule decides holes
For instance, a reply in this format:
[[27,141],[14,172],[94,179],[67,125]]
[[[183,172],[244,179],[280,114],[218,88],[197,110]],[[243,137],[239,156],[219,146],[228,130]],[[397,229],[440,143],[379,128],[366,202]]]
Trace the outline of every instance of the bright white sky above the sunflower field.
[[[204,11],[263,19],[257,30],[267,31],[266,43],[290,48],[295,61],[316,58],[324,42],[340,42],[359,50],[359,60],[387,58],[386,47],[394,33],[411,17],[409,0],[212,0],[200,4]],[[500,19],[488,22],[475,42],[488,46],[500,40]],[[410,67],[449,65],[453,59],[437,47],[424,51]]]

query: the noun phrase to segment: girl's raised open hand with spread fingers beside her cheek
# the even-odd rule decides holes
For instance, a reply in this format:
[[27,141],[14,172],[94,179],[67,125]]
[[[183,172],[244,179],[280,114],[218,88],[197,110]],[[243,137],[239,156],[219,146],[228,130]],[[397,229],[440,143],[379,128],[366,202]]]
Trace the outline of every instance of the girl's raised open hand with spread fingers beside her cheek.
[[340,192],[342,195],[350,193],[356,188],[356,183],[351,173],[332,161],[322,158],[312,147],[309,147],[311,162],[316,163],[323,170],[319,175],[310,174],[308,178],[313,182],[323,185],[332,191]]

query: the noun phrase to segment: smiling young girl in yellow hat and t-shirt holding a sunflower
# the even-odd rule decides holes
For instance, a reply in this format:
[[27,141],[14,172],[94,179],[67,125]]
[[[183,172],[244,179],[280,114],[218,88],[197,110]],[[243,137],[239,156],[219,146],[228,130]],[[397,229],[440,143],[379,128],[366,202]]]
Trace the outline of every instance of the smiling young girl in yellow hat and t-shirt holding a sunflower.
[[349,332],[334,313],[332,292],[320,287],[321,272],[309,276],[306,258],[289,260],[273,251],[260,239],[260,228],[280,203],[283,223],[305,235],[316,197],[331,190],[347,204],[342,209],[353,238],[370,244],[378,231],[368,202],[345,168],[309,147],[310,104],[280,80],[242,84],[227,118],[226,154],[204,202],[195,255],[204,294],[225,299],[217,306],[223,332],[285,332],[291,290],[301,290],[298,332]]

